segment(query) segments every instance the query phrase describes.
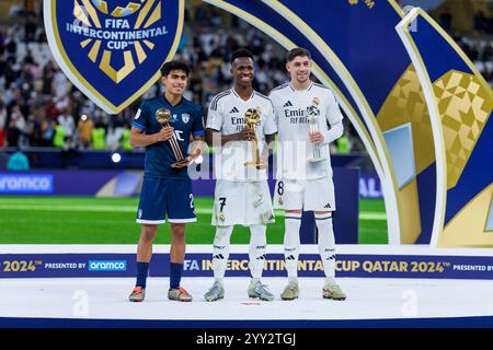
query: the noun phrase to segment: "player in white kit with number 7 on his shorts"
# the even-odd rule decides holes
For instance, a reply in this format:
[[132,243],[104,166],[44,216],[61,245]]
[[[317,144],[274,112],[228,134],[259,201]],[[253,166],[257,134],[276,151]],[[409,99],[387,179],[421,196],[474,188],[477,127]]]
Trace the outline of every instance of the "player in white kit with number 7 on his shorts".
[[[267,144],[277,131],[271,100],[252,88],[253,54],[239,49],[231,57],[233,88],[216,95],[209,105],[206,140],[218,148],[215,160],[216,189],[213,225],[215,282],[204,295],[206,301],[225,298],[223,277],[236,224],[250,228],[250,298],[272,301],[274,295],[261,283],[266,253],[266,224],[274,222],[265,163]],[[245,127],[248,112],[260,115],[254,129]],[[255,144],[259,152],[255,151]],[[254,162],[255,154],[262,162]],[[262,163],[262,164],[261,164]]]

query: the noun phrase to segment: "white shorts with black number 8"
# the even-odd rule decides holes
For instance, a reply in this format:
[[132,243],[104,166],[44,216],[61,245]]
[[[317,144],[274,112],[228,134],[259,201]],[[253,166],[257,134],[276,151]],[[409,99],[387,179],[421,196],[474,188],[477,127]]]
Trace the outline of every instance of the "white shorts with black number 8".
[[334,211],[335,195],[332,176],[305,180],[278,179],[274,189],[274,208]]

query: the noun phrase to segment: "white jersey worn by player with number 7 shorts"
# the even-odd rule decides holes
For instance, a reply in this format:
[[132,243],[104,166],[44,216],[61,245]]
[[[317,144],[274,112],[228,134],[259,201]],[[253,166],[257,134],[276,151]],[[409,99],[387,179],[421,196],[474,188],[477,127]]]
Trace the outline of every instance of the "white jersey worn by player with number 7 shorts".
[[[250,108],[260,110],[260,121],[255,125],[255,135],[259,151],[262,153],[265,135],[276,133],[277,127],[271,100],[256,91],[246,101],[241,98],[234,89],[217,94],[209,105],[207,128],[220,131],[221,135],[240,132],[245,127],[245,113]],[[259,171],[254,166],[245,166],[246,162],[253,161],[253,142],[251,141],[228,142],[215,155],[215,175],[218,179],[260,180],[267,178],[265,170]]]

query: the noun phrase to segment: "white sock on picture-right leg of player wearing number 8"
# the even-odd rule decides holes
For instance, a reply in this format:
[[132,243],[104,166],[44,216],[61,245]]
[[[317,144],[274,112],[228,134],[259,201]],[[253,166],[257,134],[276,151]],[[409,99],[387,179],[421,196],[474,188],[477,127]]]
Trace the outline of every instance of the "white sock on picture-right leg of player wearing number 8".
[[316,214],[317,229],[319,229],[319,253],[325,272],[325,283],[334,281],[335,277],[335,238],[332,228],[332,212]]

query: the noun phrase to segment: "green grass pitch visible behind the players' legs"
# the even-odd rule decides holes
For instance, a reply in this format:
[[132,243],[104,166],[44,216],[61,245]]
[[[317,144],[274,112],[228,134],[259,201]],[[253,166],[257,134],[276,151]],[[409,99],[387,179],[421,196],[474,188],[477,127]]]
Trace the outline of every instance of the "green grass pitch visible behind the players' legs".
[[[197,222],[187,225],[190,244],[211,244],[213,198],[195,198]],[[0,244],[136,244],[140,228],[135,222],[138,198],[0,197]],[[386,244],[383,200],[362,199],[359,243]],[[156,243],[169,244],[169,225],[159,229]],[[267,243],[282,244],[283,211],[268,225]],[[231,243],[246,244],[249,230],[237,225]]]

